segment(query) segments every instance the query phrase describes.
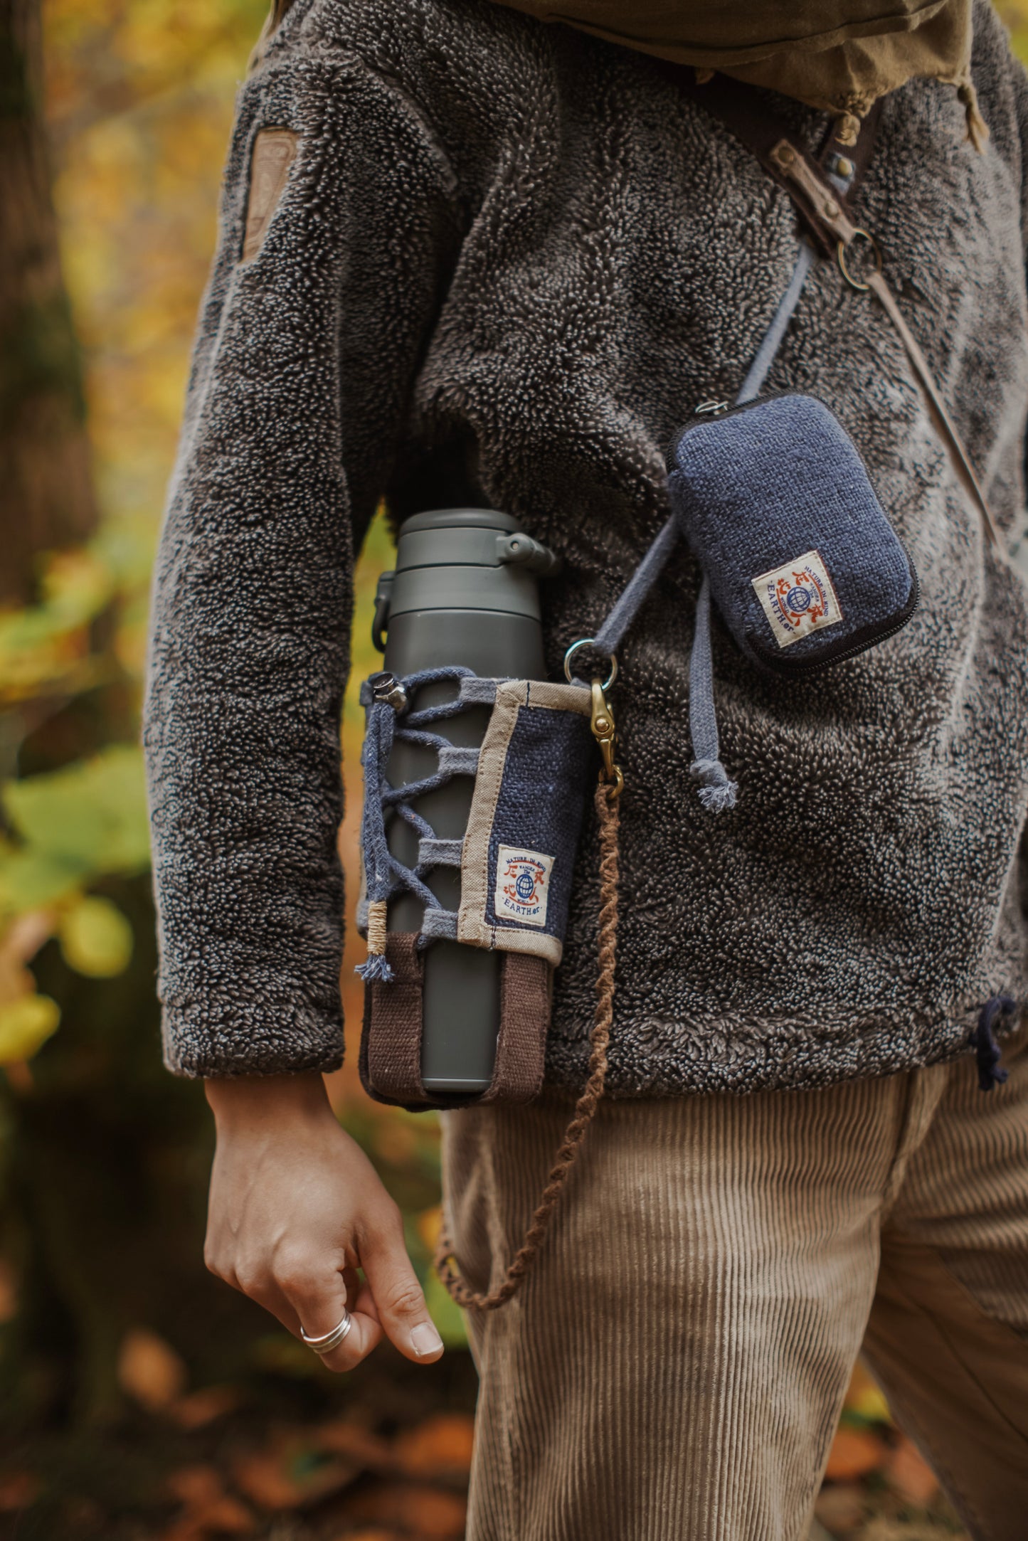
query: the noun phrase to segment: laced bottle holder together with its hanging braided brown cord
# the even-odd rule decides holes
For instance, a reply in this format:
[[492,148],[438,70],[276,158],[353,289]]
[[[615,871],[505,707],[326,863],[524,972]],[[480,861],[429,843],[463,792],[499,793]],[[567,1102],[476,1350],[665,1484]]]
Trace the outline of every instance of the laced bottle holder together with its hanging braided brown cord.
[[[618,923],[618,798],[621,770],[615,763],[615,723],[606,683],[550,684],[532,680],[484,680],[469,669],[433,669],[404,680],[373,676],[362,687],[367,709],[364,744],[365,798],[362,848],[368,935],[365,1019],[361,1037],[361,1079],[381,1102],[408,1108],[467,1106],[469,1102],[527,1102],[543,1085],[549,979],[559,963],[570,875],[583,817],[583,784],[589,775],[590,738],[603,764],[595,791],[600,831],[600,925],[596,1011],[590,1034],[589,1076],[564,1131],[549,1179],[526,1237],[501,1284],[487,1294],[462,1279],[445,1228],[436,1268],[450,1294],[467,1307],[493,1310],[519,1288],[546,1236],[564,1179],[581,1148],[603,1096],[607,1043],[613,1020],[613,968]],[[456,700],[410,712],[408,697],[439,680],[458,684]],[[459,750],[432,724],[490,704],[481,750]],[[393,789],[385,766],[396,737],[436,749],[435,777]],[[473,763],[472,763],[473,761]],[[472,811],[462,841],[438,841],[410,803],[450,775],[475,775]],[[416,868],[404,868],[390,852],[387,812],[419,834]],[[450,849],[459,848],[459,849]],[[459,861],[461,905],[444,911],[424,878],[433,865]],[[419,934],[388,934],[385,909],[396,886],[425,905]],[[435,938],[450,937],[504,952],[502,1009],[493,1079],[478,1097],[428,1099],[421,1088],[421,954]],[[418,1091],[422,1091],[422,1097]]]

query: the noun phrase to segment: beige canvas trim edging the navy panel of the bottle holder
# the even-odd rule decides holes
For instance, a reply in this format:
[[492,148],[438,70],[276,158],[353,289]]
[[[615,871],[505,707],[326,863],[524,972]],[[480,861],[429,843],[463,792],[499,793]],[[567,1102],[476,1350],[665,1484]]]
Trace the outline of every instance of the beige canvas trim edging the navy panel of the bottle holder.
[[456,938],[473,948],[498,948],[504,952],[526,952],[546,959],[553,968],[564,955],[558,937],[539,931],[522,931],[510,926],[490,926],[485,920],[489,905],[489,837],[504,780],[507,750],[518,723],[518,713],[529,712],[580,712],[589,715],[590,695],[581,686],[550,684],[546,680],[506,680],[496,686],[496,703],[489,718],[485,738],[478,757],[478,775],[472,811],[464,832],[461,852],[461,906],[456,912]]

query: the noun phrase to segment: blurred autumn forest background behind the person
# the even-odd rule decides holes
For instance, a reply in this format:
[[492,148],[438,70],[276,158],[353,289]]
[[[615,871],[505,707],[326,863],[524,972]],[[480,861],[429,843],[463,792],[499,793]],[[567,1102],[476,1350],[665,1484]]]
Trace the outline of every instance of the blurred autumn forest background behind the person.
[[[146,592],[233,97],[265,9],[0,0],[0,1535],[18,1541],[464,1532],[475,1373],[428,1268],[435,1120],[370,1103],[351,1068],[331,1077],[450,1348],[416,1368],[385,1347],[333,1378],[207,1276],[207,1105],[160,1065]],[[1028,0],[1000,9],[1028,57]],[[384,566],[378,521],[354,680],[375,666]],[[359,734],[351,689],[351,903]],[[860,1371],[817,1527],[960,1533]]]

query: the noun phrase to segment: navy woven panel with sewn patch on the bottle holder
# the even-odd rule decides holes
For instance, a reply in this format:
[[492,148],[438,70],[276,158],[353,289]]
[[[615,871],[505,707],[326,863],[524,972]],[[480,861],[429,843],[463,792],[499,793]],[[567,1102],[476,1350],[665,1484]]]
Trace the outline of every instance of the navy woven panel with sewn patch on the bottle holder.
[[[584,792],[595,780],[593,758],[587,717],[518,710],[489,837],[490,926],[538,926],[564,940]],[[496,912],[498,886],[502,914]]]

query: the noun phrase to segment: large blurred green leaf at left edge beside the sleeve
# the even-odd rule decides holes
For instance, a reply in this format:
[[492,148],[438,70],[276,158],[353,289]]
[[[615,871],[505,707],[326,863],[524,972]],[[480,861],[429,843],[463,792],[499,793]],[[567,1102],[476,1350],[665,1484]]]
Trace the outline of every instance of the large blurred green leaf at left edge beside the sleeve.
[[133,744],[8,781],[3,803],[28,846],[69,866],[136,872],[149,860],[143,761]]

